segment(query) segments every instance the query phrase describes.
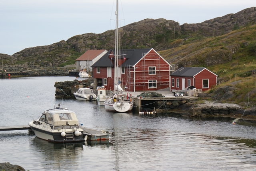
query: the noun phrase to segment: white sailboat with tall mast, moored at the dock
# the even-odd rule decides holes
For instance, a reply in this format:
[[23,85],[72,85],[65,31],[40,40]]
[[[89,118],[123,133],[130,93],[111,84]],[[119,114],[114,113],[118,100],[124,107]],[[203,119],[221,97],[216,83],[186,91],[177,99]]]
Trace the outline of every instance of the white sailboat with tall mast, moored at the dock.
[[110,94],[110,98],[107,99],[105,109],[113,112],[128,112],[132,110],[133,101],[132,96],[128,91],[123,91],[122,87],[118,84],[118,58],[119,47],[118,47],[118,0],[116,0],[116,40],[115,40],[115,62],[114,62],[114,92]]

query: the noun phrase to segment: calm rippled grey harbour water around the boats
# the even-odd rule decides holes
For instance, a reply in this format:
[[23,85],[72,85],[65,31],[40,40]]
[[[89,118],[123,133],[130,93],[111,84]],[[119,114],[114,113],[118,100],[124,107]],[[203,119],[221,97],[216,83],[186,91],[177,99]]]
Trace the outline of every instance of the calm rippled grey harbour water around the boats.
[[27,125],[60,102],[75,111],[84,126],[114,131],[114,144],[56,145],[26,130],[2,131],[0,163],[10,162],[30,171],[256,169],[256,123],[232,125],[231,118],[111,113],[96,101],[55,99],[55,82],[74,79],[0,79],[0,125]]

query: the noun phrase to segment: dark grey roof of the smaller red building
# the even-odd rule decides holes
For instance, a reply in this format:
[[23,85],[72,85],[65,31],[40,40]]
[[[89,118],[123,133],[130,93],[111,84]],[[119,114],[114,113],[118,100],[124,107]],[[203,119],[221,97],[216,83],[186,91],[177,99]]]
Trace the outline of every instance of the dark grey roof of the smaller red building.
[[181,67],[180,69],[176,70],[170,76],[186,76],[192,77],[204,70],[205,68],[194,68],[194,67]]

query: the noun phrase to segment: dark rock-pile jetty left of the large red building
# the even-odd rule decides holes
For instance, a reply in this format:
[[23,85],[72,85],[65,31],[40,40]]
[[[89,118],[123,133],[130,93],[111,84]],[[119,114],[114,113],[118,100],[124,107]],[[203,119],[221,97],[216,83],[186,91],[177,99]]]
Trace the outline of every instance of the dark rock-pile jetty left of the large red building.
[[55,98],[75,98],[72,91],[72,88],[81,87],[92,88],[91,83],[93,78],[88,78],[87,80],[74,80],[74,81],[64,81],[64,82],[55,82]]

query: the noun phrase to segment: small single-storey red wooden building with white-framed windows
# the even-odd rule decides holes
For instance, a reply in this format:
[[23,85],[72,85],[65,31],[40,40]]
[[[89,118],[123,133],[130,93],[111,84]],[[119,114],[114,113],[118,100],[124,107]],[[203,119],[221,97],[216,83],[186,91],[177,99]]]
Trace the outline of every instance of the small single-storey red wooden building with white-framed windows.
[[206,68],[182,67],[171,75],[171,91],[184,90],[188,86],[206,91],[217,84],[217,75]]

